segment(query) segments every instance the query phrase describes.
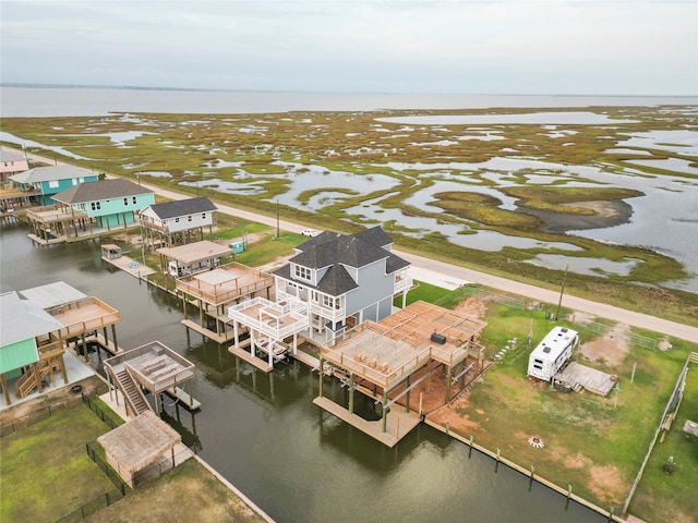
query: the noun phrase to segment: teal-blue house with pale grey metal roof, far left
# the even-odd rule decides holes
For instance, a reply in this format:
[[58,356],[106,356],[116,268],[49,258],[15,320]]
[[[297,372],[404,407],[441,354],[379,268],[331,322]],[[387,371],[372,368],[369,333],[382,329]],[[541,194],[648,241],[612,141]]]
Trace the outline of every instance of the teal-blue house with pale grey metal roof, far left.
[[52,205],[51,197],[84,182],[97,181],[97,174],[73,166],[35,167],[10,177],[14,187],[33,192],[38,205]]

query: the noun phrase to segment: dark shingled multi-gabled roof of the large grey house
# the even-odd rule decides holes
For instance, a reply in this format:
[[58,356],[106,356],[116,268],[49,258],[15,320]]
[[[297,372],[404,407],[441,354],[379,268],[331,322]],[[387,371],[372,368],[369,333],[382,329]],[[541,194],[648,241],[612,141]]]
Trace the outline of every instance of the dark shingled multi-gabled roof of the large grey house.
[[[315,289],[325,294],[338,296],[359,287],[344,266],[359,268],[385,259],[385,270],[388,275],[409,266],[409,262],[384,248],[392,243],[393,240],[381,227],[347,236],[325,231],[299,245],[297,248],[300,253],[289,262],[311,269],[328,267]],[[274,273],[287,280],[293,280],[290,263]],[[305,281],[303,284],[313,287]]]

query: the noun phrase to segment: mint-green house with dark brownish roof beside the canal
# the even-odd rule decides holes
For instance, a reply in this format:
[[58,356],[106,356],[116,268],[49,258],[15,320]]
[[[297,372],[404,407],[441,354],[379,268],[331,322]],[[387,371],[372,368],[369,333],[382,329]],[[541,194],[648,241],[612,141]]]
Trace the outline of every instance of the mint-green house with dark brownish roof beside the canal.
[[53,200],[88,216],[98,228],[137,223],[139,212],[155,204],[155,193],[121,178],[81,183],[53,195]]

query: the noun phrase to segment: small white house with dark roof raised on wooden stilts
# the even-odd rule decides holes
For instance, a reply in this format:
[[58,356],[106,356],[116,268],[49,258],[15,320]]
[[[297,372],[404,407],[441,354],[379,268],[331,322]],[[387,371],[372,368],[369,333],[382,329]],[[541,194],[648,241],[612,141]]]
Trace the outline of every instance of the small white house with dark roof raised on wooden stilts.
[[206,197],[148,205],[141,211],[143,245],[155,248],[156,244],[171,246],[204,240],[204,229],[213,240],[217,210]]

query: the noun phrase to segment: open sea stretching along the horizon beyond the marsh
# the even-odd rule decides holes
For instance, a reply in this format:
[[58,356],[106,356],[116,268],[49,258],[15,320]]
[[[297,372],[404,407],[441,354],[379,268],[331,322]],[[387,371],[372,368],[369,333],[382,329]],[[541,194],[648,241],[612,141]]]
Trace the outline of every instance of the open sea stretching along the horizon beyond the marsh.
[[470,109],[486,107],[587,107],[698,104],[697,97],[399,95],[352,93],[243,93],[0,85],[3,117],[89,117],[109,112],[254,113]]

